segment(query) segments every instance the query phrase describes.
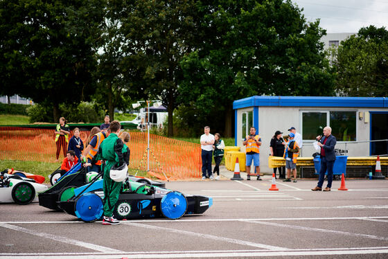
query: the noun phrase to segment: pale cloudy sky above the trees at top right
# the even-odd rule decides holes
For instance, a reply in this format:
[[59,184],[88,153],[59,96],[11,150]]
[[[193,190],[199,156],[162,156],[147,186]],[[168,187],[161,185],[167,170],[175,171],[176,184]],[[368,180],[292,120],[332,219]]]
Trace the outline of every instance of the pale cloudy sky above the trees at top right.
[[358,33],[362,27],[388,30],[388,0],[292,0],[307,21],[320,18],[326,33]]

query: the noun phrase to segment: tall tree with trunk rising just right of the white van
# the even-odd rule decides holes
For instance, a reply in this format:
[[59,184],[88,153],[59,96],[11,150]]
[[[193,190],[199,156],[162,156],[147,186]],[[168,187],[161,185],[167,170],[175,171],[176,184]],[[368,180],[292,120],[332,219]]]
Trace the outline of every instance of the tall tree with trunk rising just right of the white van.
[[122,19],[123,66],[130,72],[123,74],[136,78],[134,85],[148,98],[161,98],[168,109],[168,136],[173,136],[173,111],[179,105],[179,62],[191,52],[194,6],[194,0],[136,0]]

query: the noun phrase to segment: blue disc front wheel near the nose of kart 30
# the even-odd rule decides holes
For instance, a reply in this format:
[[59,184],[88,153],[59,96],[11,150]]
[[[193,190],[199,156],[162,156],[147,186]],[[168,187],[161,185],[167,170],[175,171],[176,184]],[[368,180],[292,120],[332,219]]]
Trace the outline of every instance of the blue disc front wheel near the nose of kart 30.
[[187,210],[187,199],[182,193],[171,191],[161,199],[161,213],[170,220],[180,219]]

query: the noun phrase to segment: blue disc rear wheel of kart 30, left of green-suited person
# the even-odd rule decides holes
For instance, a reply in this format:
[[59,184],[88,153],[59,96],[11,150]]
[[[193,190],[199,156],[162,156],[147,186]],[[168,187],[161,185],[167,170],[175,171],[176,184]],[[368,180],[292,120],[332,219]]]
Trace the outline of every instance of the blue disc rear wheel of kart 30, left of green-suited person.
[[94,222],[103,215],[103,200],[94,193],[85,193],[77,199],[75,207],[76,216],[85,222]]

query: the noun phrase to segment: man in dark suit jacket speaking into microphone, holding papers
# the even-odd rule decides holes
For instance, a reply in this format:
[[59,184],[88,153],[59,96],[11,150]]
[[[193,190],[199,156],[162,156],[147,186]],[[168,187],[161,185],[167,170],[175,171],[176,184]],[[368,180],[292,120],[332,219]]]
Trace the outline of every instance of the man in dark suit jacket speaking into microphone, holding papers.
[[319,181],[315,188],[311,190],[322,190],[325,173],[328,171],[328,184],[324,191],[328,192],[333,181],[333,166],[335,161],[334,147],[337,140],[331,134],[331,127],[324,127],[324,136],[317,136],[319,147],[321,147],[321,170],[319,170]]

